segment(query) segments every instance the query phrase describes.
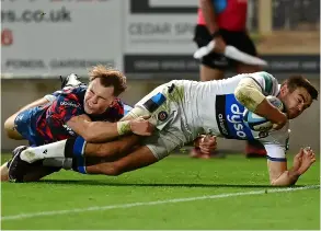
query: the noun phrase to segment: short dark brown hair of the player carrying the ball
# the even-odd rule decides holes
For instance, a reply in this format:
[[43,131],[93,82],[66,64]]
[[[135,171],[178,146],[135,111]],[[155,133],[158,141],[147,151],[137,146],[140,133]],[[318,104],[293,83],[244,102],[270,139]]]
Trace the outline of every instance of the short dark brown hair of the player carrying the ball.
[[318,100],[318,90],[302,76],[291,76],[284,81],[283,85],[284,84],[287,85],[290,92],[295,91],[297,88],[303,88],[311,95],[312,100]]

